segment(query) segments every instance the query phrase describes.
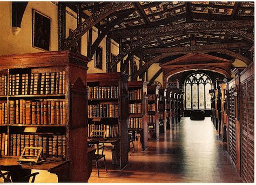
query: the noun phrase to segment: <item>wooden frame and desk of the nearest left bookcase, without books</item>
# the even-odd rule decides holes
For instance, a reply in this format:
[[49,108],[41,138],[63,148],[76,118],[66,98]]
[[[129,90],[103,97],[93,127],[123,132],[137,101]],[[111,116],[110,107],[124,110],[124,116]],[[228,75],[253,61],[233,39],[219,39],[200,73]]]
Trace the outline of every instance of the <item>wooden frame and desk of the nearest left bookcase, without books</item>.
[[[7,87],[9,90],[9,78],[12,74],[38,74],[65,72],[63,94],[37,94],[37,95],[9,95],[1,96],[1,101],[10,103],[10,100],[34,100],[65,102],[64,115],[66,122],[58,124],[8,124],[0,125],[0,133],[8,133],[7,156],[0,159],[0,167],[21,167],[21,170],[44,169],[58,175],[59,182],[87,182],[87,97],[86,97],[86,71],[87,62],[91,59],[86,56],[75,54],[70,51],[42,52],[19,55],[0,56],[1,74],[7,74]],[[53,87],[53,86],[52,86]],[[40,87],[41,88],[41,87]],[[8,106],[9,109],[9,106]],[[36,131],[31,129],[35,127]],[[10,134],[24,134],[24,130],[33,130],[35,134],[50,136],[60,134],[66,138],[65,156],[55,162],[48,158],[38,166],[17,166],[17,158],[10,158]],[[31,134],[31,133],[29,133]],[[84,143],[80,141],[83,140]],[[47,149],[46,149],[47,150]],[[14,172],[18,174],[19,169],[10,169],[12,177]],[[69,173],[72,172],[72,173]],[[22,172],[21,172],[22,173]],[[24,175],[25,176],[25,175]],[[15,177],[14,177],[15,178]]]

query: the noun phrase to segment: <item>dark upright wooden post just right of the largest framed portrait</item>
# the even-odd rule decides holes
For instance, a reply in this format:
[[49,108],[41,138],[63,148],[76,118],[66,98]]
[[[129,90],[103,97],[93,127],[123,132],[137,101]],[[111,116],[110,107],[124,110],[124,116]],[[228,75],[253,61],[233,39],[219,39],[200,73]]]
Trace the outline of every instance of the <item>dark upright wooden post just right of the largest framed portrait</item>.
[[66,39],[66,6],[58,3],[58,49],[63,50],[64,40]]

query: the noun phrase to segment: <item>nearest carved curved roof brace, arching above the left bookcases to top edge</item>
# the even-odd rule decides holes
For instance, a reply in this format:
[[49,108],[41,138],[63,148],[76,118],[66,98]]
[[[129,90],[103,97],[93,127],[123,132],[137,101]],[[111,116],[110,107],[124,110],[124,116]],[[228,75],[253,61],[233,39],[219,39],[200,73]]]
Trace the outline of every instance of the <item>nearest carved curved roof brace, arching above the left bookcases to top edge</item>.
[[101,19],[110,15],[110,13],[122,8],[124,5],[129,4],[129,2],[110,2],[105,6],[101,6],[96,10],[90,17],[85,19],[85,21],[80,24],[72,34],[63,43],[63,49],[69,49],[75,42],[82,37],[92,26],[97,24]]

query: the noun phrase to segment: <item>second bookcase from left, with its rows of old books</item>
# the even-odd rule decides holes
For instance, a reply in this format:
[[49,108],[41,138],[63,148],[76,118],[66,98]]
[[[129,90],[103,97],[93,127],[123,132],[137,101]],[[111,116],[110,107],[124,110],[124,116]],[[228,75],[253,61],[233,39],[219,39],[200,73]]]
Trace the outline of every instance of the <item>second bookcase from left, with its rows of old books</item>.
[[124,73],[87,74],[88,132],[103,130],[107,139],[119,140],[115,150],[121,169],[128,164],[129,152],[128,77]]

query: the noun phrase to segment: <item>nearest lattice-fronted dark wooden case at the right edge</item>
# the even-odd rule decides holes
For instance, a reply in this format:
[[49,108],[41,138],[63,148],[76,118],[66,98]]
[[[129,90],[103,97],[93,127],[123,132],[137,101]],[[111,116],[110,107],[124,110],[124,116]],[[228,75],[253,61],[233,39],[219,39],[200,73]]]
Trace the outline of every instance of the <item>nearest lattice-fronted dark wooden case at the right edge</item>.
[[239,77],[241,178],[254,182],[254,62]]

